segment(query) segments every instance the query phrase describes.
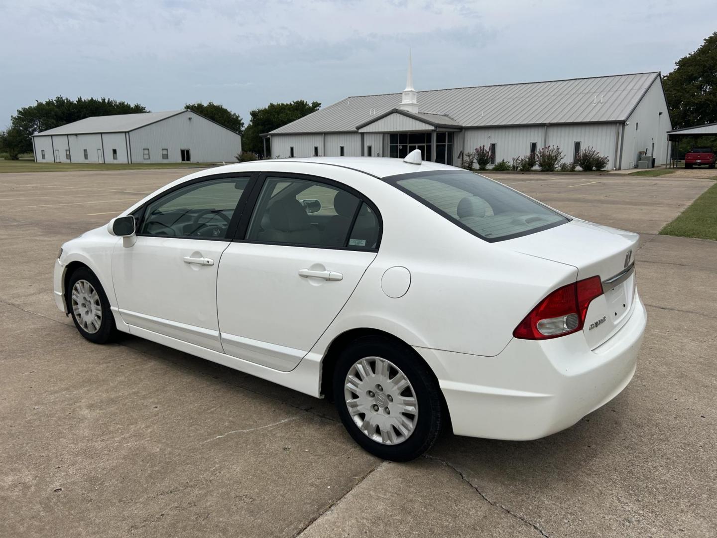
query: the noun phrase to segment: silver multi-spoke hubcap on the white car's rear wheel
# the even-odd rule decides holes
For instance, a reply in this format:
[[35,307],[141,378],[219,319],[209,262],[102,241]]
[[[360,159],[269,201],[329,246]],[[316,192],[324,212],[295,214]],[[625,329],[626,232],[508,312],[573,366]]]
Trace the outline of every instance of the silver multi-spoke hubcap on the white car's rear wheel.
[[386,359],[366,357],[353,364],[343,396],[353,422],[377,443],[403,443],[416,428],[416,393],[408,377]]

